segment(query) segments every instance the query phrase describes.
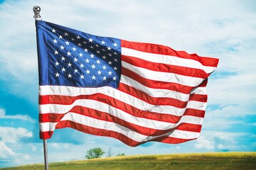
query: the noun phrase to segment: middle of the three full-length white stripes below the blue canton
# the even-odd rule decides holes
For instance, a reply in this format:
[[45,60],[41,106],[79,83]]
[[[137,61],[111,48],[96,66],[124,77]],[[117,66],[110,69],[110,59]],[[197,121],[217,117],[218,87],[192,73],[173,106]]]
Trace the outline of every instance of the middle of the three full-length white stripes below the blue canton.
[[[105,112],[110,115],[114,115],[114,117],[120,118],[122,120],[125,120],[129,123],[133,123],[135,125],[143,126],[146,128],[152,128],[152,129],[159,129],[159,130],[168,130],[171,128],[175,128],[176,126],[180,125],[181,123],[192,123],[196,125],[202,125],[203,118],[194,117],[191,115],[183,115],[181,119],[178,121],[178,123],[166,123],[159,120],[151,120],[147,118],[139,118],[134,115],[131,115],[129,113],[126,113],[122,110],[119,110],[118,108],[114,108],[112,106],[109,106],[106,103],[100,103],[98,101],[92,101],[92,100],[79,100],[75,104],[78,104],[78,106],[92,108],[97,111]],[[45,113],[58,113],[58,114],[65,114],[70,112],[70,110],[74,107],[74,105],[58,105],[58,104],[46,104],[46,105],[40,105],[39,106],[39,113],[45,114]]]

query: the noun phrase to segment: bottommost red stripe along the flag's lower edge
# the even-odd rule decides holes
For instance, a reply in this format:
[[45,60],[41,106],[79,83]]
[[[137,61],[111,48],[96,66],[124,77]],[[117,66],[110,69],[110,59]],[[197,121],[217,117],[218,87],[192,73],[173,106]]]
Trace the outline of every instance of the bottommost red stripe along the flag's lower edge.
[[[73,129],[79,130],[80,132],[85,132],[85,133],[88,133],[91,135],[114,137],[117,140],[122,141],[124,144],[129,145],[130,147],[136,147],[136,146],[144,143],[144,142],[134,141],[134,140],[130,139],[129,137],[122,135],[119,132],[114,132],[112,130],[104,130],[104,129],[99,129],[99,128],[92,128],[90,126],[81,125],[79,123],[74,123],[69,120],[60,121],[60,123],[58,123],[56,125],[56,129],[60,129],[60,128],[73,128]],[[43,140],[49,139],[51,137],[51,135],[53,135],[53,132],[40,132],[40,138]],[[178,144],[178,143],[182,143],[182,142],[187,142],[189,140],[179,139],[179,138],[175,138],[175,137],[158,137],[154,140],[149,140],[149,141],[158,141],[158,142],[165,142],[165,143],[169,143],[169,144]],[[147,141],[147,142],[149,142],[149,141]]]

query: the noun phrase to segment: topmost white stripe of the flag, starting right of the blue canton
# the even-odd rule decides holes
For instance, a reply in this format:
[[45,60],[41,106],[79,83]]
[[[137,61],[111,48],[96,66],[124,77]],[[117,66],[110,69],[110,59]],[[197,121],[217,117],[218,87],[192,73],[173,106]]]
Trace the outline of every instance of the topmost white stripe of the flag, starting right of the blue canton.
[[183,59],[183,58],[171,56],[171,55],[158,55],[158,54],[153,54],[149,52],[141,52],[141,51],[132,50],[126,47],[122,47],[121,51],[122,51],[122,55],[137,57],[139,59],[146,60],[149,62],[158,62],[163,64],[177,65],[181,67],[202,69],[208,74],[210,74],[211,72],[214,72],[216,69],[216,67],[204,66],[203,64],[201,64],[196,60]]

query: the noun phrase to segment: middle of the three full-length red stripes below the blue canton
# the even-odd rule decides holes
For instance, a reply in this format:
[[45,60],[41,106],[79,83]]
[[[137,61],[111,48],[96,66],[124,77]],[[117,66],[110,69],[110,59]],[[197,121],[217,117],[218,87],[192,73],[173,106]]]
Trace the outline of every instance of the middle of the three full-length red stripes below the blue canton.
[[[186,130],[191,132],[200,132],[201,131],[201,125],[195,125],[191,123],[181,123],[180,125],[177,125],[175,128],[168,129],[168,130],[158,130],[153,128],[146,128],[140,125],[136,125],[134,123],[129,123],[126,120],[122,120],[120,118],[115,117],[114,115],[110,115],[105,112],[96,111],[92,108],[85,108],[85,107],[74,107],[71,111],[72,113],[78,113],[80,115],[84,115],[85,117],[95,118],[98,120],[104,120],[111,123],[117,123],[118,125],[122,125],[126,128],[129,128],[130,130],[133,130],[134,132],[138,132],[142,135],[147,136],[158,136],[158,135],[164,135],[167,132],[170,132],[171,130],[177,129],[177,130]],[[65,114],[57,114],[57,113],[47,113],[47,114],[39,114],[39,122],[40,123],[58,123],[61,121]]]

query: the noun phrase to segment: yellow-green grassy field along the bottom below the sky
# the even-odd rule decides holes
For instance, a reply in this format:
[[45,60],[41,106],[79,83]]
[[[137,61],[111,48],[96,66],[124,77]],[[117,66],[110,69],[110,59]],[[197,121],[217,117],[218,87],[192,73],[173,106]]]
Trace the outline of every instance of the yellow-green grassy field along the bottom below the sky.
[[[43,164],[31,164],[4,168],[1,170],[40,170]],[[215,152],[203,154],[160,154],[121,156],[90,159],[73,162],[50,163],[49,169],[86,169],[86,170],[137,170],[137,169],[256,169],[256,152]]]

